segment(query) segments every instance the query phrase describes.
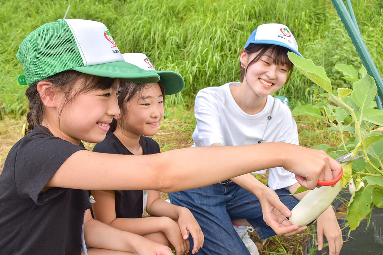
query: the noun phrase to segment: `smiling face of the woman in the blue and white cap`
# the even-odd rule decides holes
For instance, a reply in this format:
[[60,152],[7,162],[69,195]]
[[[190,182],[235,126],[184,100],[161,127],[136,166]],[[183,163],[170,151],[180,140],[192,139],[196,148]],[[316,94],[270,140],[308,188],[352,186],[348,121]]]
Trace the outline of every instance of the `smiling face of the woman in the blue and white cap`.
[[241,52],[241,62],[245,64],[246,73],[243,84],[256,96],[268,96],[286,83],[289,66],[285,63],[275,63],[273,53],[266,51],[259,59],[252,62],[259,52]]

